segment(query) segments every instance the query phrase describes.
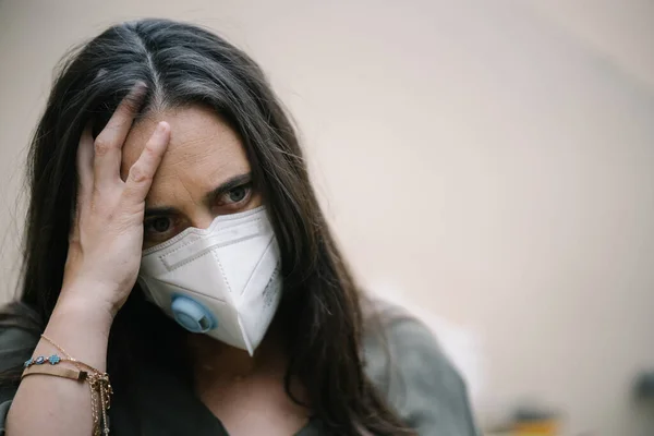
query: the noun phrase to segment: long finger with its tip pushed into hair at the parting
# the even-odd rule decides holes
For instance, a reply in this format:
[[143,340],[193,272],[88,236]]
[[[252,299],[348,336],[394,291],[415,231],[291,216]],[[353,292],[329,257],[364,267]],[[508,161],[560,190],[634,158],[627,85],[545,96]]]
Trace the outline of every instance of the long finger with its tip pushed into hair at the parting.
[[146,87],[137,84],[120,102],[94,142],[95,189],[120,181],[121,149],[143,101]]

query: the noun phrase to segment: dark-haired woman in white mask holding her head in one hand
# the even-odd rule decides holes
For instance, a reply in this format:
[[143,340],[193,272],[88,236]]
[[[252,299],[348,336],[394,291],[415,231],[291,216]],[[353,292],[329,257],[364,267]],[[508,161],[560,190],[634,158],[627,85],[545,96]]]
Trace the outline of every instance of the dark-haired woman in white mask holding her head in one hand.
[[0,434],[474,434],[426,328],[358,292],[289,119],[223,39],[162,20],[93,39],[28,175]]

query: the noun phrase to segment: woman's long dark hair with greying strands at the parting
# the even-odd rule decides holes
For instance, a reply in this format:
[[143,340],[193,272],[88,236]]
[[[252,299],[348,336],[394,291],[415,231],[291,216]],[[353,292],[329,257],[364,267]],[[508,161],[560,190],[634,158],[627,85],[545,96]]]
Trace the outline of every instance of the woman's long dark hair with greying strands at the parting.
[[[242,140],[281,249],[287,392],[294,398],[291,379],[299,379],[316,417],[336,434],[408,434],[364,374],[362,296],[320,211],[289,118],[258,65],[201,27],[166,20],[116,25],[61,64],[29,150],[21,303],[48,322],[68,253],[80,135],[89,120],[100,131],[138,81],[148,86],[142,114],[205,105]],[[167,340],[157,340],[162,331]],[[179,354],[181,340],[171,337],[181,339],[179,328],[147,306],[136,287],[111,331],[108,365],[117,391],[129,385],[125,367],[142,363],[143,350]]]

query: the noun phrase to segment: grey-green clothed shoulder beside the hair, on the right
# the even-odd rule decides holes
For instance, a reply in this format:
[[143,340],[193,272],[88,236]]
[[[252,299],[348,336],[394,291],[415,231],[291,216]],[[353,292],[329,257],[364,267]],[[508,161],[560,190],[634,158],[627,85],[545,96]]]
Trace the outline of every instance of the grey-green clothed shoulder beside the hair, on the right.
[[432,330],[403,308],[367,304],[366,372],[420,435],[476,435],[465,383]]

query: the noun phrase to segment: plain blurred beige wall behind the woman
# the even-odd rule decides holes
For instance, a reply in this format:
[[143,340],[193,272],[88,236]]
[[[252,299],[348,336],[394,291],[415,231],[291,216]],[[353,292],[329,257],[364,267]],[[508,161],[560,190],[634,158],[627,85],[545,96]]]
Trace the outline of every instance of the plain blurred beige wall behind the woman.
[[0,0],[4,299],[52,66],[142,16],[262,63],[362,282],[462,331],[482,421],[537,399],[569,435],[654,432],[654,3]]

